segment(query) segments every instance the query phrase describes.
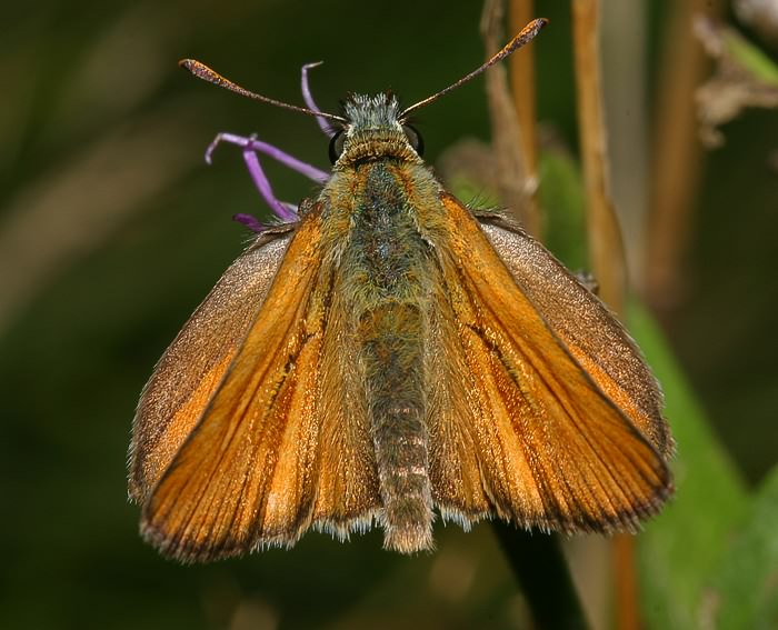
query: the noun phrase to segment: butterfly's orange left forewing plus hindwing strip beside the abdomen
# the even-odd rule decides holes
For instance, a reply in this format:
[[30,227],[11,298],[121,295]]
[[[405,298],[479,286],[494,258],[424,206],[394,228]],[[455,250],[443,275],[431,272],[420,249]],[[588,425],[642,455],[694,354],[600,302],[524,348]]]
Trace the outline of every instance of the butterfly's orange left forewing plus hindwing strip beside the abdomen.
[[169,556],[202,561],[293,544],[311,524],[347,537],[378,508],[360,406],[338,411],[342,366],[321,360],[342,337],[342,318],[329,326],[333,267],[322,263],[320,237],[311,211],[223,378],[202,386],[211,394],[191,408],[197,424],[146,502],[143,534]]

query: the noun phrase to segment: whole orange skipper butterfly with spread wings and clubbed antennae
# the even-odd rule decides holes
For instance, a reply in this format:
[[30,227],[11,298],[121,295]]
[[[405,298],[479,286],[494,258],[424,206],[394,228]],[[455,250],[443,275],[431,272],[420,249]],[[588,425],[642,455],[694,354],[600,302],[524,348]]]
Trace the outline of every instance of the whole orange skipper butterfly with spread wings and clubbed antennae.
[[[511,220],[471,211],[421,159],[409,114],[350,96],[316,116],[330,173],[263,226],[158,362],[133,422],[129,493],[163,554],[210,561],[373,526],[433,549],[437,516],[635,531],[672,491],[672,438],[640,352],[600,300]],[[303,69],[305,72],[305,69]],[[305,77],[305,74],[303,74]],[[293,160],[256,139],[255,150]],[[273,152],[275,151],[275,152]]]

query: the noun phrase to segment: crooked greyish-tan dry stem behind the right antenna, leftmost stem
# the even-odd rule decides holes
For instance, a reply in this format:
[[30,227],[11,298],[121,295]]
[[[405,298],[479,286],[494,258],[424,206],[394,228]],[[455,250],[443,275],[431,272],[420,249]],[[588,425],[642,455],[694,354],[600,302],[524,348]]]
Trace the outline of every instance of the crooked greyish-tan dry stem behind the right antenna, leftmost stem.
[[[501,22],[502,0],[487,0],[481,16],[481,36],[487,58],[501,48]],[[527,48],[531,49],[531,44]],[[522,52],[527,52],[527,49]],[[513,109],[506,69],[501,64],[487,70],[486,86],[500,200],[516,212],[516,218],[529,233],[539,236],[540,217],[533,199],[536,180],[527,169],[527,159],[522,150],[523,129]]]

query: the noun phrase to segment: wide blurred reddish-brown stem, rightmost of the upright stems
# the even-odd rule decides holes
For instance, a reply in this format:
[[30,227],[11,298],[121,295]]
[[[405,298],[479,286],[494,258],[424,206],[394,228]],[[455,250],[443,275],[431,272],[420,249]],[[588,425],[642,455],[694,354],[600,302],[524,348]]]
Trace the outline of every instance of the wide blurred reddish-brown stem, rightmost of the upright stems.
[[650,223],[642,292],[666,314],[681,293],[680,263],[686,251],[697,193],[701,150],[697,138],[695,90],[706,68],[702,48],[691,34],[697,12],[715,12],[708,0],[670,2],[668,37],[657,89]]

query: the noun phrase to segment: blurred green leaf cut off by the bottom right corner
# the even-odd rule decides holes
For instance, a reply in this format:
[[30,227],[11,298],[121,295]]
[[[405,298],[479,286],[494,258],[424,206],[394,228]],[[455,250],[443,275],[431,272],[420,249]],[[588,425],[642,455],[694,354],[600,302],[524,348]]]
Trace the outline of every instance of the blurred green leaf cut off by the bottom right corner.
[[778,467],[762,483],[711,596],[721,630],[778,628]]

